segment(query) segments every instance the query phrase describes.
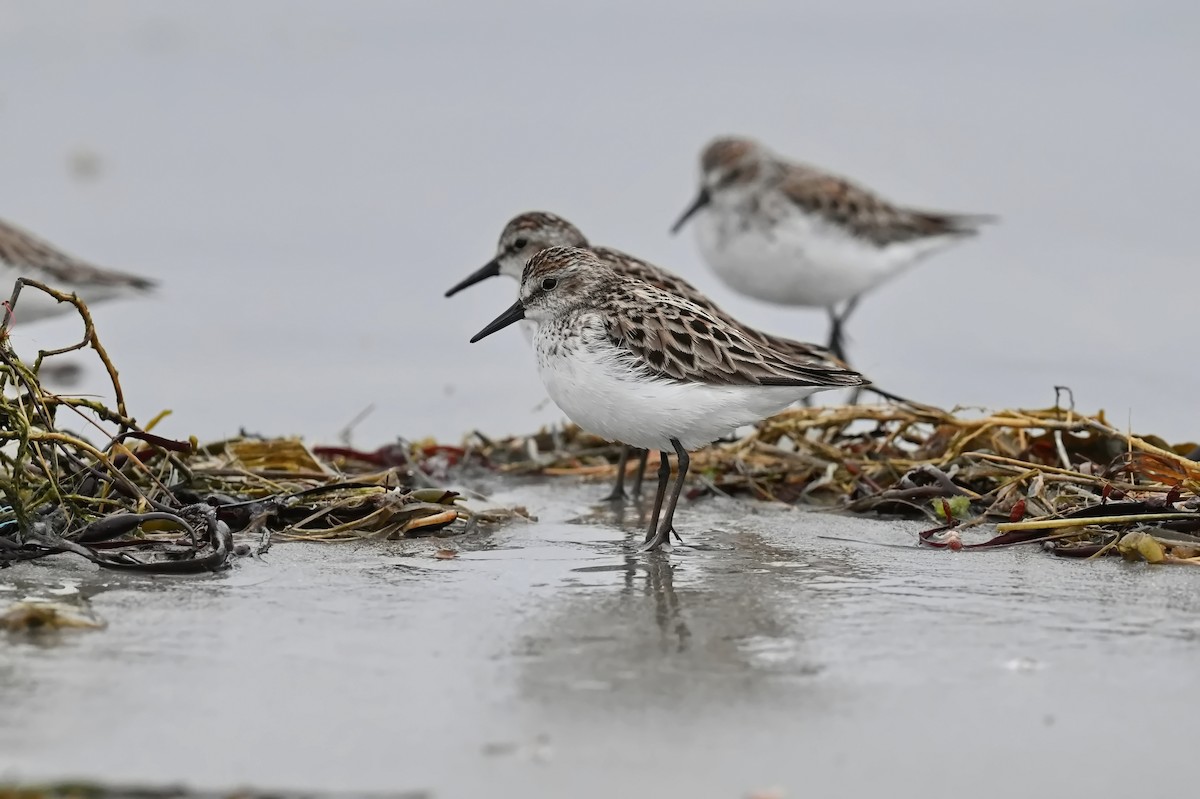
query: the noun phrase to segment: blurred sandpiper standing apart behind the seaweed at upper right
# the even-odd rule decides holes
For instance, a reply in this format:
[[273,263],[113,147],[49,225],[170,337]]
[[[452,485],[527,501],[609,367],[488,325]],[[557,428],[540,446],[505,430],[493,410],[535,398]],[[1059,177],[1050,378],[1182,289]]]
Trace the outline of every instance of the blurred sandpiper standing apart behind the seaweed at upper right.
[[694,216],[701,253],[730,288],[776,305],[827,308],[829,349],[842,359],[846,319],[865,292],[992,218],[893,205],[738,137],[704,148],[700,193],[672,233]]

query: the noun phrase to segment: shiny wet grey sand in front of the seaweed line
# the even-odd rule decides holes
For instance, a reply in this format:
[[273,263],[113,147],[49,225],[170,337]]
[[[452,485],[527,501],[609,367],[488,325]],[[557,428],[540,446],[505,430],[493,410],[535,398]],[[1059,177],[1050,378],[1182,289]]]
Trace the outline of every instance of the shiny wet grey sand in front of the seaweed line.
[[451,560],[414,540],[194,579],[0,572],[0,596],[77,583],[109,624],[0,649],[0,775],[1117,797],[1190,756],[1194,713],[1162,693],[1200,656],[1190,569],[935,552],[918,523],[733,500],[688,505],[694,548],[644,555],[636,509],[578,513],[600,488],[504,492],[540,522]]

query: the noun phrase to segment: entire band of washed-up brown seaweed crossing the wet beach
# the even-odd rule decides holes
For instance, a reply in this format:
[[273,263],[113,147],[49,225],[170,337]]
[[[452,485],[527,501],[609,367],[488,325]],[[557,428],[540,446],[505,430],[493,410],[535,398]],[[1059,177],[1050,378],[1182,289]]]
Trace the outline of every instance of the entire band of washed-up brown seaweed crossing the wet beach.
[[[74,305],[83,337],[22,361],[7,308],[23,289]],[[22,280],[5,305],[0,567],[74,553],[106,569],[188,573],[223,569],[276,541],[462,534],[528,516],[472,511],[445,486],[480,475],[611,479],[620,455],[571,425],[376,450],[251,434],[205,445],[170,439],[154,433],[164,414],[145,425],[130,415],[78,298]],[[82,350],[103,365],[112,405],[54,394],[38,380],[48,359]],[[1040,545],[1062,557],[1200,565],[1200,447],[1078,413],[1069,391],[1056,400],[1039,410],[904,401],[793,408],[694,453],[689,497],[928,518],[917,543],[929,547]],[[656,459],[652,453],[649,475]]]

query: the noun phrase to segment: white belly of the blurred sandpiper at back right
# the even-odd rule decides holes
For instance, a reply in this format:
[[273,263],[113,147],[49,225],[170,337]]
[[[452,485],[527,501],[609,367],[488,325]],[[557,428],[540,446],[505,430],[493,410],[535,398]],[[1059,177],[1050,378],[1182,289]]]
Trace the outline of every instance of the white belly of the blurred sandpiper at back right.
[[749,226],[742,220],[740,212],[706,209],[696,224],[701,253],[730,288],[776,305],[844,302],[950,241],[942,236],[881,247],[806,214]]

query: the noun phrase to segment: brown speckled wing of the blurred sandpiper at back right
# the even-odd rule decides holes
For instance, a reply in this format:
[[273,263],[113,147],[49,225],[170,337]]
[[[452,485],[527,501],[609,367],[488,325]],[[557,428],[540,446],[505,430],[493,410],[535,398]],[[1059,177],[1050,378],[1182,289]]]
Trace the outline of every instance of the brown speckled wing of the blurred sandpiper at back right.
[[991,221],[985,215],[899,208],[844,178],[799,164],[788,166],[779,188],[809,214],[881,247],[932,236],[973,235],[980,224]]

